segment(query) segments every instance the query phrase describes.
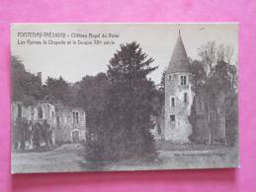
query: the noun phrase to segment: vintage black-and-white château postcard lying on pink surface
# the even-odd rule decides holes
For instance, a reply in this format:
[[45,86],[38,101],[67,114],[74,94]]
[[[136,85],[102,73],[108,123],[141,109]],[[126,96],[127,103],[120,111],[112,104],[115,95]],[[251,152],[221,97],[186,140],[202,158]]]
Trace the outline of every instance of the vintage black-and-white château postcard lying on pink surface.
[[238,24],[13,24],[12,172],[239,166]]

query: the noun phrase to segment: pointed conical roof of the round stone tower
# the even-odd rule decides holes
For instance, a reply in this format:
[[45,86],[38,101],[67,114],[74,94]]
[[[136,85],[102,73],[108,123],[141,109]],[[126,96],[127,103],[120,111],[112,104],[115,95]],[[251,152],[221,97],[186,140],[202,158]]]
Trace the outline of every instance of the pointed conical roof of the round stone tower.
[[181,33],[179,31],[178,39],[173,49],[171,61],[167,68],[167,73],[190,72],[190,63],[185,50]]

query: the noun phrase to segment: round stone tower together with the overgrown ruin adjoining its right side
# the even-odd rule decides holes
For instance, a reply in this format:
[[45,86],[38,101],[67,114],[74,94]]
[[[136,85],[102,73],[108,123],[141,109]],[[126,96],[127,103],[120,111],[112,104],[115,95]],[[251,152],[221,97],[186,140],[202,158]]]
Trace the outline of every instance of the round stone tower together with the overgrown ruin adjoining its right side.
[[[220,68],[219,70],[224,72],[224,69]],[[221,79],[221,77],[213,78]],[[209,110],[207,104],[209,103],[209,96],[206,90],[201,88],[195,93],[193,86],[191,64],[179,32],[171,60],[165,72],[163,110],[155,121],[155,130],[160,131],[154,132],[154,138],[176,144],[190,142],[204,144],[221,142],[226,144],[229,136],[233,137],[232,135],[237,134],[237,125],[234,125],[237,116],[227,114],[228,108],[226,108],[227,102],[233,102],[231,106],[237,107],[235,104],[237,103],[236,94],[222,88],[216,91],[214,90],[216,88],[213,87],[212,92],[215,93],[215,96],[212,98],[214,101],[212,101],[212,108]],[[237,109],[233,109],[233,111],[237,111]],[[211,115],[211,120],[209,120],[209,115]]]

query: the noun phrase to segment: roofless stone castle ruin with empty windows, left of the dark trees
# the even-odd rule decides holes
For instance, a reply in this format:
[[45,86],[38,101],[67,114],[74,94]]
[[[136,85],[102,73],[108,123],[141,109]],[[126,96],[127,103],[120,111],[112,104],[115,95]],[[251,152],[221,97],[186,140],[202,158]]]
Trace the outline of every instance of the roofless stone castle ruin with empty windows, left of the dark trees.
[[[60,101],[54,102],[52,99],[39,100],[33,104],[26,104],[21,101],[12,103],[13,127],[15,130],[21,129],[19,121],[23,123],[26,131],[24,133],[13,133],[16,149],[21,149],[21,138],[26,138],[25,149],[34,149],[33,137],[40,137],[40,134],[34,134],[35,125],[39,125],[42,129],[46,125],[50,145],[61,143],[78,143],[86,139],[86,113],[82,108],[71,108],[64,106]],[[45,124],[46,123],[46,124]],[[24,127],[23,127],[24,129]],[[21,134],[25,136],[21,137]],[[42,138],[39,138],[40,146],[48,145]]]

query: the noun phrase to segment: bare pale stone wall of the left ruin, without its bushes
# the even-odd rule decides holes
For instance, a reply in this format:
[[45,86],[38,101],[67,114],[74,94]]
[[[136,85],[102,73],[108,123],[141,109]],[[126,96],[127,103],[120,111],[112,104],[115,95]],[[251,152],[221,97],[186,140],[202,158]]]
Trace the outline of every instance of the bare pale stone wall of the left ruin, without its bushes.
[[[25,106],[22,102],[13,102],[12,104],[12,118],[13,126],[16,124],[18,117],[18,106],[20,105],[21,117],[26,118],[32,123],[46,120],[50,125],[53,135],[53,142],[73,142],[72,132],[79,132],[79,141],[86,139],[86,113],[81,108],[59,107],[47,101],[39,101],[37,104]],[[40,113],[39,111],[42,111]],[[78,112],[78,122],[73,119],[73,112]]]

